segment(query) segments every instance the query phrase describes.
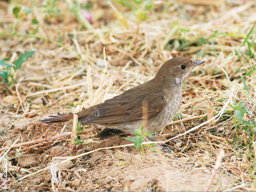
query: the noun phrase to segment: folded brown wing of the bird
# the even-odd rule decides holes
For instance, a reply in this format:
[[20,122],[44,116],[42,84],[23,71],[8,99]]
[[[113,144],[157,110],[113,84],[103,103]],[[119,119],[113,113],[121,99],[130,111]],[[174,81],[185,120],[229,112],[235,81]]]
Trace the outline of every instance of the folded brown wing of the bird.
[[95,106],[97,109],[91,115],[79,119],[81,123],[118,123],[151,117],[165,106],[162,94],[121,94]]

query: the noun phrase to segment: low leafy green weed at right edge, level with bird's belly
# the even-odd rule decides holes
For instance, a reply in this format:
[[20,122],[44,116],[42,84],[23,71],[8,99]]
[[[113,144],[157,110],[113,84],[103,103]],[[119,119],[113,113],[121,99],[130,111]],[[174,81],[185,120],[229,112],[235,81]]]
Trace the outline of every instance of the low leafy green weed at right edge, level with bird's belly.
[[247,121],[244,116],[245,114],[251,115],[253,117],[256,117],[246,106],[245,102],[232,102],[229,104],[229,106],[234,110],[234,114],[232,111],[228,111],[229,114],[231,114],[234,125],[236,129],[236,137],[238,138],[238,130],[242,130],[244,132],[244,145],[247,146],[247,135],[250,135],[252,138],[250,141],[250,144],[252,141],[256,139],[255,132],[256,132],[256,125],[254,119],[249,119]]

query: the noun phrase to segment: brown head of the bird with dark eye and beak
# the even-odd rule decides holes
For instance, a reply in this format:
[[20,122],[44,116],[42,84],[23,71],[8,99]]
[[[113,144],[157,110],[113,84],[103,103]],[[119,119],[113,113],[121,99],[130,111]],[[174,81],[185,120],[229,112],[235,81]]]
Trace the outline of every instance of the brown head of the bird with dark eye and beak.
[[198,65],[205,63],[205,61],[193,61],[189,58],[175,57],[169,59],[158,70],[157,78],[174,81],[175,84],[181,85],[188,77],[190,71]]

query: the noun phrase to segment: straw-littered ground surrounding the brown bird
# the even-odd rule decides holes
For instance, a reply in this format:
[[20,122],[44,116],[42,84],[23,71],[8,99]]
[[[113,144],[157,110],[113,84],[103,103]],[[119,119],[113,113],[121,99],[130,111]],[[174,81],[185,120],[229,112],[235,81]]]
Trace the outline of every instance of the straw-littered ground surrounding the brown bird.
[[[115,1],[0,1],[0,190],[256,190],[255,3],[182,2],[132,11]],[[3,64],[28,51],[35,53],[19,69]],[[71,146],[72,120],[38,122],[149,81],[178,56],[206,63],[151,139],[167,151],[99,140],[97,125]]]

